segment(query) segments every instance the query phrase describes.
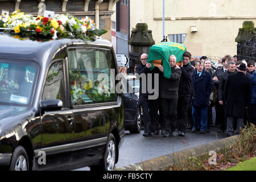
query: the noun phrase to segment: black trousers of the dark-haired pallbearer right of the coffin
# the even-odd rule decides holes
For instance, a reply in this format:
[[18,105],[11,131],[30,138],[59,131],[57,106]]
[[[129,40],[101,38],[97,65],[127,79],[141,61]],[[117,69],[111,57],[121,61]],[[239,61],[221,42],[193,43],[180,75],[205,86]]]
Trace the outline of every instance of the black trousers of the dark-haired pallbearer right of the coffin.
[[179,97],[177,101],[177,128],[186,132],[188,124],[188,106],[190,97]]

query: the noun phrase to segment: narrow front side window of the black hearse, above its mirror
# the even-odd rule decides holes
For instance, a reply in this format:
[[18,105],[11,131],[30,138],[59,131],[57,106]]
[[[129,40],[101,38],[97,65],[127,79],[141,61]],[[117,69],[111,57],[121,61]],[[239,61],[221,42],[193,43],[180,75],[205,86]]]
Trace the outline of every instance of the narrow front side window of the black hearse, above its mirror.
[[55,61],[48,69],[42,100],[48,99],[59,99],[65,107],[63,60]]

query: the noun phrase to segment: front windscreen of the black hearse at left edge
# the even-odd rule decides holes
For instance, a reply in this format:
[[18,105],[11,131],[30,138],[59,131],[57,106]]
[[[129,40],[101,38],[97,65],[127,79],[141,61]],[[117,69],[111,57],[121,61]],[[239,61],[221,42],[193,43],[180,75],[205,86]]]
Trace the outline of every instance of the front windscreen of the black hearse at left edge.
[[0,61],[0,102],[29,104],[37,71],[30,61]]

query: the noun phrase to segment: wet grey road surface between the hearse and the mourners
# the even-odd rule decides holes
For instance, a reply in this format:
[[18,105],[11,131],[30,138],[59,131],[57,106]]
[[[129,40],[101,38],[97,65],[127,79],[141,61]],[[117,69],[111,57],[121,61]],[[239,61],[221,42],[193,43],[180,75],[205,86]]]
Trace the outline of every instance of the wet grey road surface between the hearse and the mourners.
[[[186,148],[199,146],[217,139],[226,138],[223,133],[217,133],[216,127],[210,128],[210,133],[191,133],[187,130],[185,137],[164,138],[163,135],[153,137],[143,137],[144,130],[140,134],[130,134],[126,131],[122,147],[119,149],[119,159],[117,167],[124,167],[130,164],[142,162],[144,160],[157,158],[159,156],[171,154]],[[185,143],[183,143],[185,141]],[[76,169],[77,171],[88,171],[89,167]]]

